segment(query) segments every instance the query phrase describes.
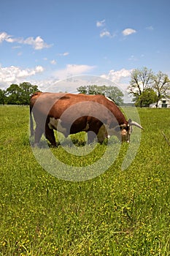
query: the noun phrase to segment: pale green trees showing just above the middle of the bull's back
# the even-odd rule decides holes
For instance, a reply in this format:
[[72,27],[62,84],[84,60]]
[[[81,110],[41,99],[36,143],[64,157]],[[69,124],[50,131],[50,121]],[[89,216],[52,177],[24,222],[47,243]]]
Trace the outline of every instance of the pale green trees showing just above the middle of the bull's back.
[[123,92],[116,86],[80,86],[77,91],[80,94],[102,94],[112,99],[117,105],[123,104]]

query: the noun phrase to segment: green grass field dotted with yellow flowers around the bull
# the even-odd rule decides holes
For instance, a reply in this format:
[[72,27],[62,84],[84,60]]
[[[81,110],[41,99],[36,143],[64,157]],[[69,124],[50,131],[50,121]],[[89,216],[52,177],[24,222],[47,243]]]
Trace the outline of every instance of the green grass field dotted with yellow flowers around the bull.
[[[121,170],[124,143],[106,172],[73,182],[36,162],[29,108],[0,106],[1,256],[170,255],[170,147],[161,133],[170,140],[170,110],[139,109],[139,116],[144,131],[131,165]],[[78,164],[104,147],[87,162],[77,157]],[[74,162],[62,147],[51,151]]]

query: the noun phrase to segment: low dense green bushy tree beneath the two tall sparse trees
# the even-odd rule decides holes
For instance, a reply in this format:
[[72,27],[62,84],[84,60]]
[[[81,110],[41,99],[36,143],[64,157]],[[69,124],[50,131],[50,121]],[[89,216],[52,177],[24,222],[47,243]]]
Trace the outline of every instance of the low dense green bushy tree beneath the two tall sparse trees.
[[136,107],[140,106],[140,103],[142,102],[142,106],[144,107],[150,107],[150,104],[156,102],[158,100],[158,96],[156,92],[148,88],[142,92],[142,94],[139,96],[139,98],[136,100]]

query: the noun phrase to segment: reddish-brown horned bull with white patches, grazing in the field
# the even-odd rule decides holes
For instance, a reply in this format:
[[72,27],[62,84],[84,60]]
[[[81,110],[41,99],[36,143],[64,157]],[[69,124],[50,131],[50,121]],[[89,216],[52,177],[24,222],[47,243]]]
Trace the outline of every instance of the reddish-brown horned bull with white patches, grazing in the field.
[[[33,120],[36,129],[33,129]],[[52,146],[56,146],[53,129],[65,137],[77,132],[88,132],[88,142],[94,138],[102,143],[105,138],[116,135],[120,140],[130,142],[132,126],[143,129],[125,116],[111,99],[104,95],[62,94],[36,92],[30,101],[30,126],[34,143],[39,143],[42,134]]]

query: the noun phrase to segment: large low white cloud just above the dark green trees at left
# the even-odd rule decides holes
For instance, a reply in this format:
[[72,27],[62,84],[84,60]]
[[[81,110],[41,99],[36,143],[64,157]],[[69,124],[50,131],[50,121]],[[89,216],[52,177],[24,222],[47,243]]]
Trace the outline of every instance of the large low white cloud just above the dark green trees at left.
[[23,79],[36,75],[36,73],[43,72],[42,66],[36,66],[33,69],[20,69],[20,67],[0,67],[0,83],[7,87],[11,83],[22,83]]

